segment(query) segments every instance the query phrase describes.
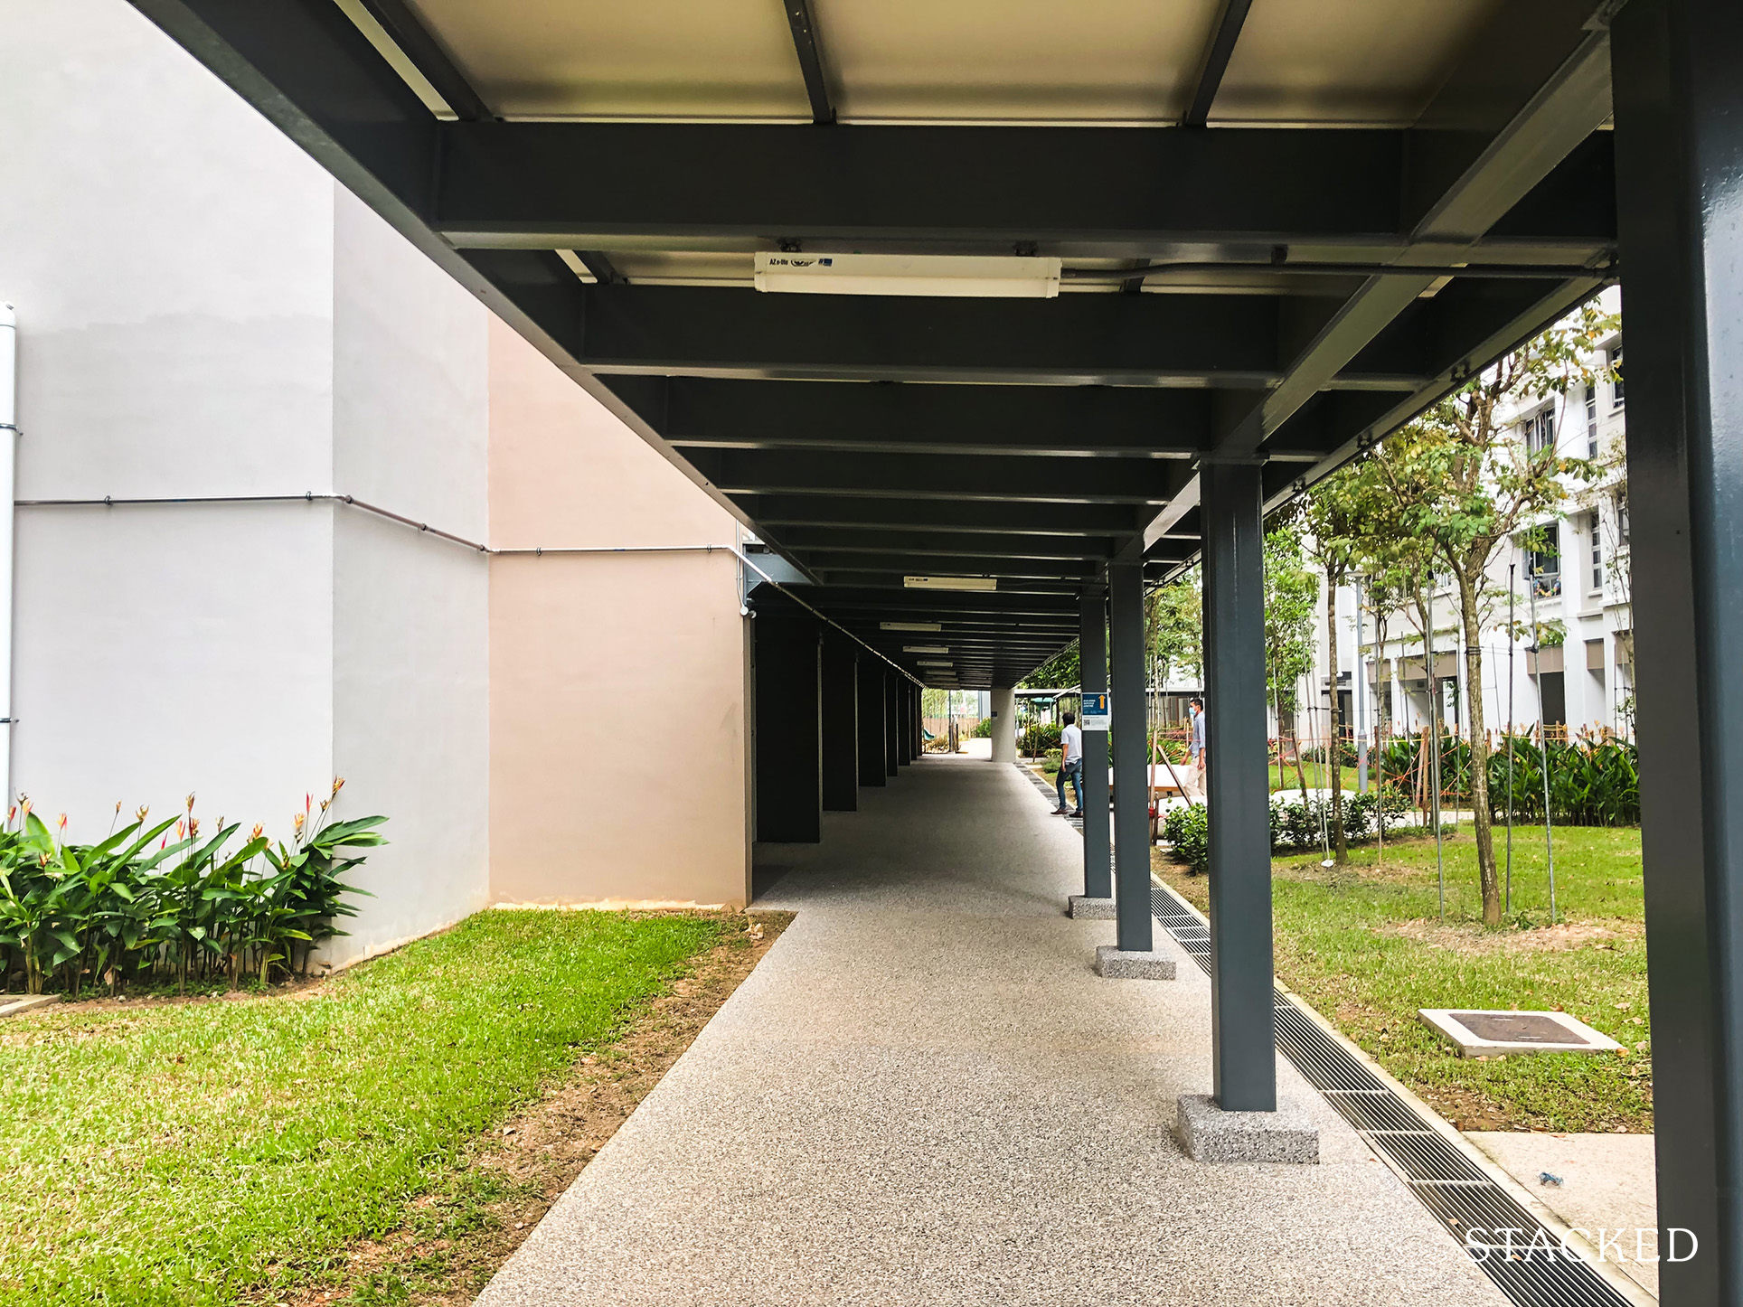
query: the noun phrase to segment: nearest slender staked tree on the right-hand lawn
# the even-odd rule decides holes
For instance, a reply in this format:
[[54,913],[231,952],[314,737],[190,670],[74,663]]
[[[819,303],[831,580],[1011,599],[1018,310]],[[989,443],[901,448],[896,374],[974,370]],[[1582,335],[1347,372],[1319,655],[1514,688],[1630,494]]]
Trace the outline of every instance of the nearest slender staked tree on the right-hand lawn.
[[1553,413],[1555,397],[1565,396],[1570,385],[1590,385],[1595,380],[1590,359],[1616,328],[1614,314],[1586,305],[1471,376],[1389,437],[1372,458],[1394,497],[1400,525],[1433,547],[1436,563],[1452,573],[1459,594],[1466,685],[1473,687],[1468,695],[1471,807],[1487,925],[1501,924],[1482,695],[1480,631],[1494,601],[1489,566],[1509,540],[1541,544],[1543,525],[1567,498],[1569,484],[1590,483],[1597,476],[1595,464],[1563,458],[1553,439],[1543,448],[1530,448],[1508,415],[1539,399],[1550,399]]

